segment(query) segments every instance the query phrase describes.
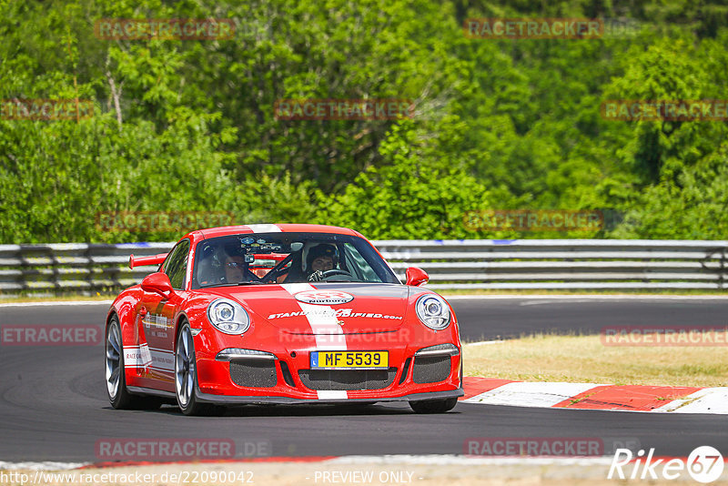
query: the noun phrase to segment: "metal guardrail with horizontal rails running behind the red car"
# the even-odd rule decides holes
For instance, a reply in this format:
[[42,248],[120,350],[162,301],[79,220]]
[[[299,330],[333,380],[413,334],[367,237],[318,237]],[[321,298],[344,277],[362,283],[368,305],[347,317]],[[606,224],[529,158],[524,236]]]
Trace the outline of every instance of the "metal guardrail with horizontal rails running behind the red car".
[[[726,289],[728,241],[645,239],[380,240],[400,278],[415,265],[432,289]],[[173,243],[0,245],[0,293],[122,289]]]

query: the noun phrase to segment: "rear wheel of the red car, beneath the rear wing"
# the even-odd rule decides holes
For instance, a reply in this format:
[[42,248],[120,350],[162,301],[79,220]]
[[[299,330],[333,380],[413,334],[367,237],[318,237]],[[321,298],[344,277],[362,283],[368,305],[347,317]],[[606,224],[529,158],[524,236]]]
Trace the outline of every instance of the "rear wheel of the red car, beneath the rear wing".
[[[121,338],[121,326],[119,326],[119,320],[116,316],[109,320],[108,326],[106,326],[105,338],[106,396],[111,406],[117,410],[157,410],[162,405],[162,399],[133,395],[126,390],[124,342]],[[118,374],[117,381],[113,380],[115,375],[112,362],[115,358],[116,373]],[[114,381],[116,381],[116,387]]]

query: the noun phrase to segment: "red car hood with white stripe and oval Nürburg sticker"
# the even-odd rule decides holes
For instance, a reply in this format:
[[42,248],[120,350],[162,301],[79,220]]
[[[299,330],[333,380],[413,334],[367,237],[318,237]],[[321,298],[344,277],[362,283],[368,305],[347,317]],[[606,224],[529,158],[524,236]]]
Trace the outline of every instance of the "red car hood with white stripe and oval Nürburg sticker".
[[[344,334],[399,329],[407,317],[410,288],[398,284],[320,283],[215,289],[238,300],[253,319],[300,334]],[[312,326],[313,324],[313,326]],[[328,328],[328,329],[327,329]]]

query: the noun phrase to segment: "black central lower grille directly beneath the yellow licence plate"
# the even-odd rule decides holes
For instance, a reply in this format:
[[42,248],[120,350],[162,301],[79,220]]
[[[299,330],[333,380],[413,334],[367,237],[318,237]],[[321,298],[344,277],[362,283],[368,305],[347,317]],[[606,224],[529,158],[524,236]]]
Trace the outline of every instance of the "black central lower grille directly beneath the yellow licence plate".
[[397,368],[389,370],[299,370],[298,377],[310,390],[381,390],[389,387]]

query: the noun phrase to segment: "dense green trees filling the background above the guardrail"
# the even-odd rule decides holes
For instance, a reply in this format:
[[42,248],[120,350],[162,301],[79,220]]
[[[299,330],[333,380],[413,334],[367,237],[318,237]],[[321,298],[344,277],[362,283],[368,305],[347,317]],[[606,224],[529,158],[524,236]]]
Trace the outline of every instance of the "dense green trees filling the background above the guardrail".
[[[0,244],[170,240],[102,211],[228,211],[369,238],[725,238],[725,122],[611,121],[609,99],[727,99],[724,2],[0,0]],[[601,39],[485,40],[468,17],[606,17]],[[228,18],[225,40],[102,40],[103,18]],[[411,119],[278,120],[284,98],[401,98]],[[470,211],[613,208],[594,234],[474,231]]]

